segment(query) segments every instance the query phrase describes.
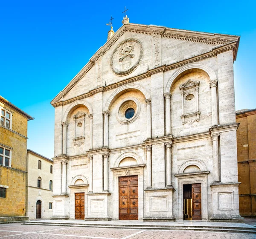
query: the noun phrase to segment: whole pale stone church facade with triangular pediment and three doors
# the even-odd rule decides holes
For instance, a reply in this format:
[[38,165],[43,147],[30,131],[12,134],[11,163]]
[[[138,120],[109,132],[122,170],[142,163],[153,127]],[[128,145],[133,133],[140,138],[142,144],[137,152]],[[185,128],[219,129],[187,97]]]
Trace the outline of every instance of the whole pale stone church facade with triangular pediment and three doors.
[[241,221],[239,37],[129,23],[52,100],[52,219]]

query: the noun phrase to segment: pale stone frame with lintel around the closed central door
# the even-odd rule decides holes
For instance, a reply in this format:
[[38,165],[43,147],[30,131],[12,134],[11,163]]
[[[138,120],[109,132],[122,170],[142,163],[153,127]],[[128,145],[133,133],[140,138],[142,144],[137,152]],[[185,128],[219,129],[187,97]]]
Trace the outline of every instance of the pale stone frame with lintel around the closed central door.
[[144,173],[145,164],[137,164],[128,167],[111,168],[113,171],[113,220],[119,220],[119,177],[138,175],[138,220],[143,220],[143,196],[144,196]]

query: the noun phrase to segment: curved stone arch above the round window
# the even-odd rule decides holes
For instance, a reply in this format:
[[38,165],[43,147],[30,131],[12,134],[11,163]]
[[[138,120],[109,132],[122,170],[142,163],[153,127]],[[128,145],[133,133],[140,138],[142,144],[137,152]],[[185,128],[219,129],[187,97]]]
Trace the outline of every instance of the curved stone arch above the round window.
[[145,99],[150,99],[150,98],[151,98],[149,92],[148,92],[143,86],[140,86],[140,85],[138,85],[138,84],[127,84],[127,85],[123,85],[123,86],[118,87],[118,88],[111,94],[111,96],[108,98],[108,101],[107,101],[106,104],[105,104],[104,111],[108,111],[108,110],[109,110],[109,108],[111,107],[112,103],[116,100],[116,98],[119,97],[119,95],[120,95],[121,92],[123,92],[123,91],[128,91],[128,90],[131,90],[131,89],[137,89],[137,90],[139,90],[140,92],[142,92],[143,95],[145,96]]

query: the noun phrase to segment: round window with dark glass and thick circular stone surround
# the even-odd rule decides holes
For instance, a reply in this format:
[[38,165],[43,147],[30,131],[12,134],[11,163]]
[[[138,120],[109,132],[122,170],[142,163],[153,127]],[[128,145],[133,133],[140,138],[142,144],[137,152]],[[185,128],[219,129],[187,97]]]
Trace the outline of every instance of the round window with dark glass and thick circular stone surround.
[[120,124],[134,122],[140,114],[140,102],[133,97],[124,99],[116,109],[116,119]]

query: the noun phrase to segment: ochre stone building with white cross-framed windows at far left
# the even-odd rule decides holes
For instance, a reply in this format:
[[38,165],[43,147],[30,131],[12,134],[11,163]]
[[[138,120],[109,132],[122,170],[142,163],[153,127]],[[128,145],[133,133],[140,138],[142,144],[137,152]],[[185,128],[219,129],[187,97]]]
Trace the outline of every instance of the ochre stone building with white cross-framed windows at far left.
[[0,221],[26,219],[27,121],[32,119],[0,96]]

